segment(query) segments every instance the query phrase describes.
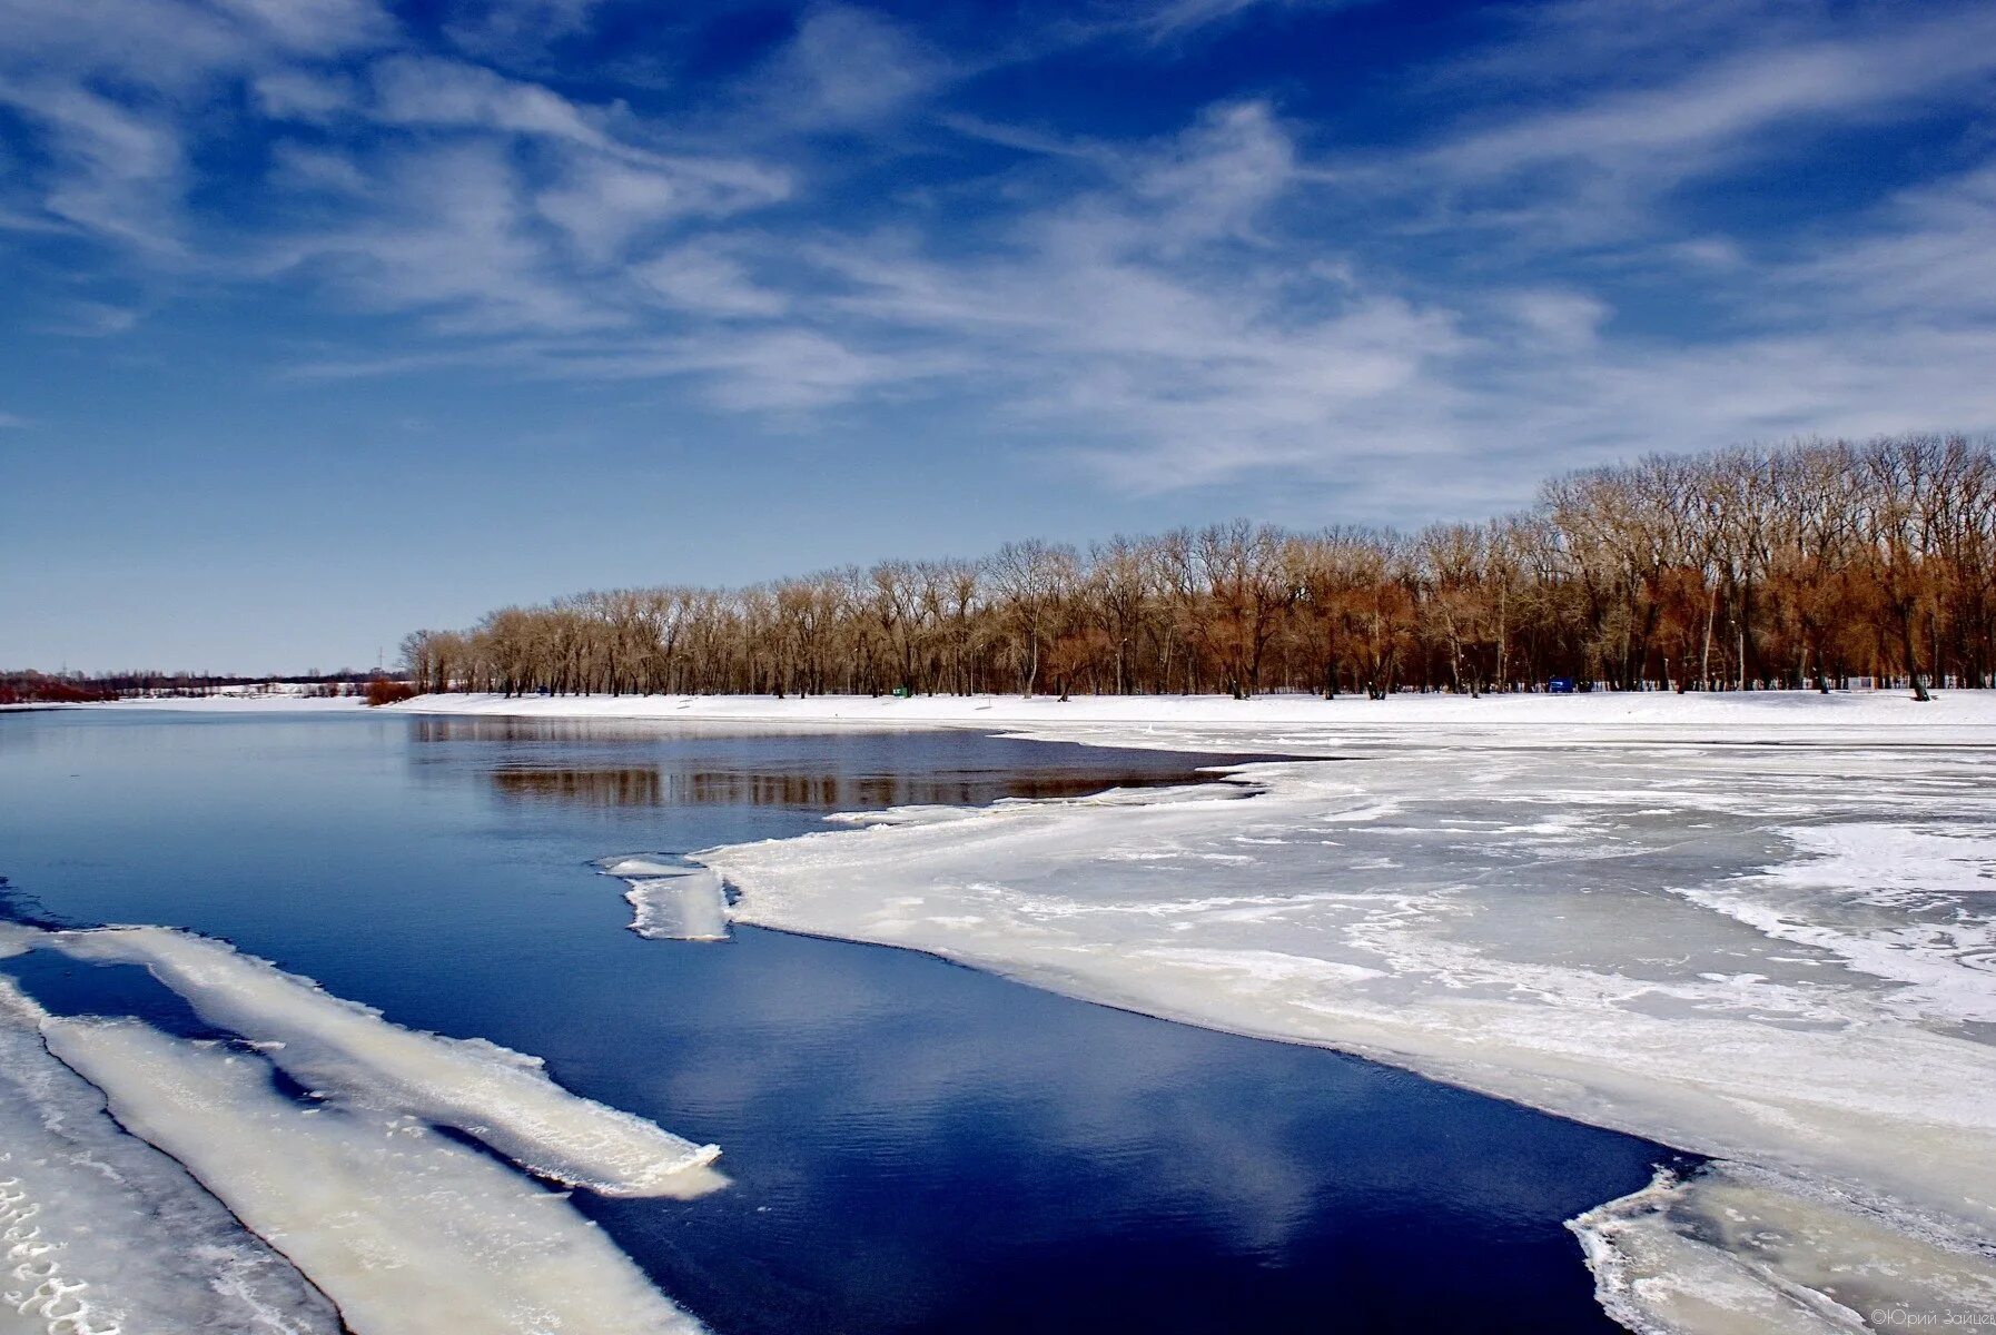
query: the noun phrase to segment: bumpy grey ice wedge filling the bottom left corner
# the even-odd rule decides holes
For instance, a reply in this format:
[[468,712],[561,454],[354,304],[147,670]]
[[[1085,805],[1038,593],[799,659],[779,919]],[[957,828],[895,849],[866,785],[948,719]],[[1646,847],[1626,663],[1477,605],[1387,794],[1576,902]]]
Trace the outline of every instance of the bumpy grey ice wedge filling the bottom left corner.
[[339,1331],[339,1313],[198,1181],[104,1112],[0,978],[0,1331]]

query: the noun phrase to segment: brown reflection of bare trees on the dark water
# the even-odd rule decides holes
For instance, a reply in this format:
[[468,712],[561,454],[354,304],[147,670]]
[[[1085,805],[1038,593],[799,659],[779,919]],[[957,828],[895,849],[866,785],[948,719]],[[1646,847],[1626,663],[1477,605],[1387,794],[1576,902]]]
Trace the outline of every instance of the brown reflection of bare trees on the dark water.
[[501,796],[569,802],[575,806],[802,806],[866,810],[880,806],[972,806],[998,798],[1060,798],[1194,782],[1186,772],[1012,774],[842,774],[836,770],[667,770],[667,768],[513,768],[491,770]]

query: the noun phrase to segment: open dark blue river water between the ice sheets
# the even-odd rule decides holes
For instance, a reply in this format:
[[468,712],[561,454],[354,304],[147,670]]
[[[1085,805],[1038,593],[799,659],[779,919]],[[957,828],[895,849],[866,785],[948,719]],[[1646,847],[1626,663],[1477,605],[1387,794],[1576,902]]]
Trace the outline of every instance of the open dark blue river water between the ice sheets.
[[[1657,1145],[926,956],[647,942],[587,866],[1206,762],[954,732],[0,714],[0,874],[44,914],[224,936],[719,1141],[727,1191],[577,1199],[723,1335],[1617,1329],[1561,1221],[1643,1185]],[[202,1032],[128,966],[0,968],[64,1012]]]

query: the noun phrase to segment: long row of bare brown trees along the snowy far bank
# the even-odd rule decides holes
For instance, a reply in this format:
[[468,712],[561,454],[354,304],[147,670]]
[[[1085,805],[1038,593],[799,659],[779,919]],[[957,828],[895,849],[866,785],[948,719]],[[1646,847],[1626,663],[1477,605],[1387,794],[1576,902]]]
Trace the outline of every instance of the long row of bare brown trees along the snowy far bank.
[[1553,479],[1403,533],[1220,523],[1086,551],[615,589],[417,631],[419,690],[1134,694],[1988,686],[1988,439],[1798,441]]

